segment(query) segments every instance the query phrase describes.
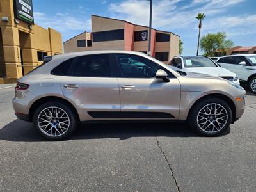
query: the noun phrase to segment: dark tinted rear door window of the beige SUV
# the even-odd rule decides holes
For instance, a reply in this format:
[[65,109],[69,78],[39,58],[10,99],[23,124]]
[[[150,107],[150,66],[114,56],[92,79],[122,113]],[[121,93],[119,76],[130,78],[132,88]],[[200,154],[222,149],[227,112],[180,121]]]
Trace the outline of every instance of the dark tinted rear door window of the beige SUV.
[[111,77],[108,54],[77,57],[70,70],[76,77]]

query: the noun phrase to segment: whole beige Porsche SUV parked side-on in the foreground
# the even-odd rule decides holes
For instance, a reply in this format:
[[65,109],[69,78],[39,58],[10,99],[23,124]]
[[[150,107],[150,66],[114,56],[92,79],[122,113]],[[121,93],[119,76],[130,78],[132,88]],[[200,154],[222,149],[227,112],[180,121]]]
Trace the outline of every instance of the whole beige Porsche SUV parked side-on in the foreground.
[[[86,51],[49,56],[19,79],[13,108],[50,140],[80,122],[182,122],[205,136],[244,113],[245,91],[225,79],[177,72],[146,54]],[[170,124],[171,128],[171,124]]]

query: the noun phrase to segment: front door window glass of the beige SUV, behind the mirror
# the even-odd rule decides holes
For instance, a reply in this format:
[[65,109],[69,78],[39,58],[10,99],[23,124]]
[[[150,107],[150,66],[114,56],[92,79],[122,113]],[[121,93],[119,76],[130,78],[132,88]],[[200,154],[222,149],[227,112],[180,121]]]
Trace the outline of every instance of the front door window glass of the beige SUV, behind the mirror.
[[116,59],[120,66],[122,77],[152,78],[156,76],[156,72],[159,69],[165,70],[168,77],[173,77],[173,74],[161,67],[161,65],[141,56],[116,54]]

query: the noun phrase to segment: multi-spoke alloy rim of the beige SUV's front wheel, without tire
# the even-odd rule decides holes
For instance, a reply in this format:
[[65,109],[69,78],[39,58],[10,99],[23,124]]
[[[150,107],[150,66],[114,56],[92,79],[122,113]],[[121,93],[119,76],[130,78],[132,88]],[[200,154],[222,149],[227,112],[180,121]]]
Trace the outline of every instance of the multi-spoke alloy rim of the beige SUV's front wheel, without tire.
[[207,104],[197,115],[197,124],[205,132],[217,132],[223,129],[228,121],[227,110],[217,103]]

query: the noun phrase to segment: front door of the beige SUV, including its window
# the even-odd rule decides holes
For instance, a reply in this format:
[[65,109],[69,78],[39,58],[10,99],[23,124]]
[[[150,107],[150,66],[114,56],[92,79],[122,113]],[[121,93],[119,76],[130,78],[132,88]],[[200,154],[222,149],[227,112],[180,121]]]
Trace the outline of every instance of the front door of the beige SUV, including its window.
[[[123,58],[134,61],[132,72],[122,67]],[[121,119],[179,118],[180,83],[170,71],[148,58],[133,54],[116,54],[116,63],[120,69]],[[155,78],[159,69],[168,73],[170,82]]]

